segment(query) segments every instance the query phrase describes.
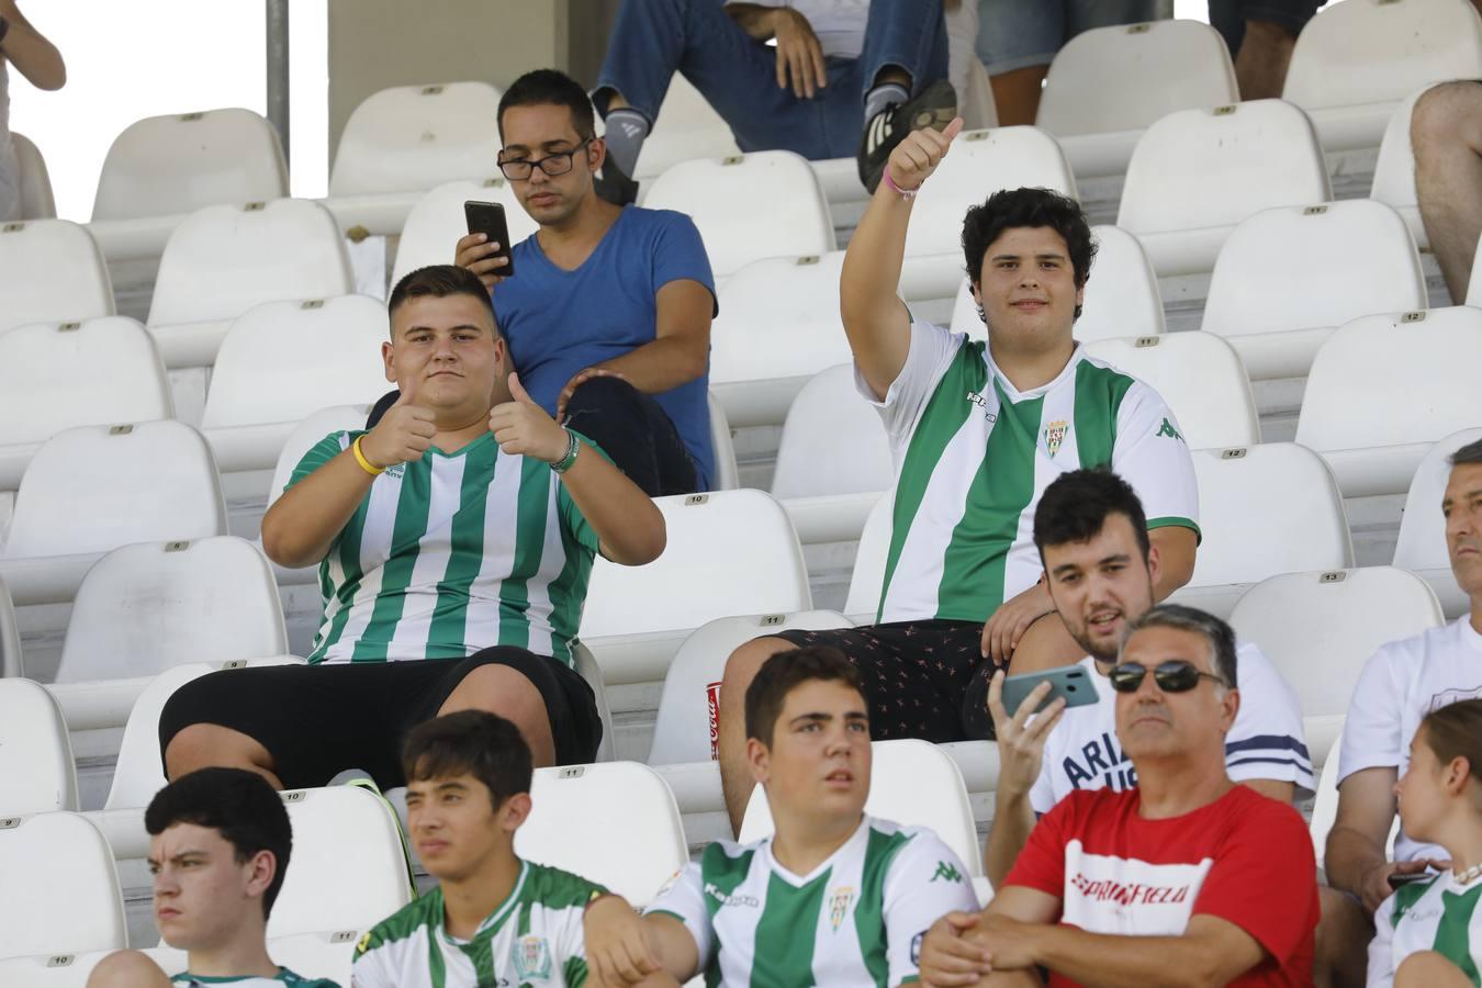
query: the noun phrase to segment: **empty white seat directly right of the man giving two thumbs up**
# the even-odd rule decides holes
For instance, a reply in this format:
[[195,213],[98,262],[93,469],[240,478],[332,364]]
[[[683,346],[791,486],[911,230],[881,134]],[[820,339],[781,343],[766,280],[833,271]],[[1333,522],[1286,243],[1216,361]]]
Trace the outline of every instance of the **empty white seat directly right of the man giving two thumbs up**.
[[646,566],[599,557],[591,567],[581,638],[609,684],[664,678],[674,649],[707,621],[812,607],[802,547],[771,496],[741,489],[655,504],[668,530],[664,554]]

